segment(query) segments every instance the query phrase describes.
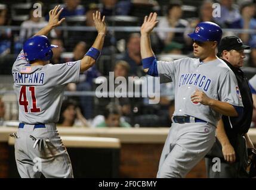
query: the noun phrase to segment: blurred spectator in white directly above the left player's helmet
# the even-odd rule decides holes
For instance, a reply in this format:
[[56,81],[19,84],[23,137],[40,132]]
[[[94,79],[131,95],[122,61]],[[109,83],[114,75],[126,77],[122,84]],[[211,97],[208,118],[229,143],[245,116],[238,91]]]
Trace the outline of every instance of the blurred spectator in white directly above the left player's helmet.
[[[44,18],[34,17],[33,11],[35,8],[31,8],[29,11],[29,20],[21,23],[20,28],[20,42],[23,43],[29,37],[32,37],[39,30],[47,26],[48,22]],[[55,30],[51,30],[51,37],[57,37]]]

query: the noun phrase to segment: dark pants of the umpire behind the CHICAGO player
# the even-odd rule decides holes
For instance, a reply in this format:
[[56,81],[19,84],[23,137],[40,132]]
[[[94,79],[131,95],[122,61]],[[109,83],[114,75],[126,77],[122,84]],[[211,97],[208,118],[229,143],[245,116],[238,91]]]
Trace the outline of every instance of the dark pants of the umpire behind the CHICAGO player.
[[[246,168],[248,166],[248,154],[246,140],[242,135],[238,135],[238,145],[236,148],[236,162],[228,163],[224,160],[222,147],[216,139],[211,151],[205,157],[206,173],[208,178],[249,178]],[[212,162],[214,157],[220,158],[220,170],[217,169],[216,161]]]

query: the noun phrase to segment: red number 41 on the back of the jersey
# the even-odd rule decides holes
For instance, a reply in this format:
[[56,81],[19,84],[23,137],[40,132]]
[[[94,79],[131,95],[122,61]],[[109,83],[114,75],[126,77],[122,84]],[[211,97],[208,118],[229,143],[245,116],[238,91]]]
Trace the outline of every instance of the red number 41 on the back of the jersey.
[[[36,96],[35,96],[35,87],[28,87],[31,95],[32,100],[32,108],[30,108],[30,112],[41,112],[41,109],[39,107],[36,107]],[[27,106],[29,105],[29,102],[27,101],[27,93],[26,93],[26,85],[23,85],[20,89],[20,98],[18,99],[18,103],[20,103],[21,106],[24,106],[25,112],[29,112]],[[23,100],[22,100],[23,99]]]

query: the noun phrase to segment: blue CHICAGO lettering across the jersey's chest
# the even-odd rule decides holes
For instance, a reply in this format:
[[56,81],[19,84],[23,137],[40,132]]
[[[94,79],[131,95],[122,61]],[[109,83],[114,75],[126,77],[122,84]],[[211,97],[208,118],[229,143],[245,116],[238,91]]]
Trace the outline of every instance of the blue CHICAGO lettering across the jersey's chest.
[[180,83],[178,83],[178,86],[180,87],[181,85],[186,84],[193,84],[202,87],[204,91],[207,91],[211,84],[211,79],[198,73],[187,73],[180,76]]

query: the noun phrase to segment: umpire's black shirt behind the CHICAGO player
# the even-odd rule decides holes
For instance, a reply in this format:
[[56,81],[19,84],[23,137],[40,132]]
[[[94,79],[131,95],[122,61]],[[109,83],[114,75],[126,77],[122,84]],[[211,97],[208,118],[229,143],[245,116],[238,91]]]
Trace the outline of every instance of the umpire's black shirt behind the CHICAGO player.
[[[238,87],[240,90],[240,95],[242,96],[243,102],[243,113],[239,117],[222,116],[224,129],[226,131],[227,137],[230,143],[237,149],[237,137],[238,135],[244,135],[248,132],[252,121],[252,110],[253,101],[252,94],[249,88],[248,80],[245,77],[243,71],[235,66],[231,65],[226,60],[222,59],[226,64],[232,69],[236,75],[236,80],[238,80]],[[235,90],[235,89],[234,89]]]

